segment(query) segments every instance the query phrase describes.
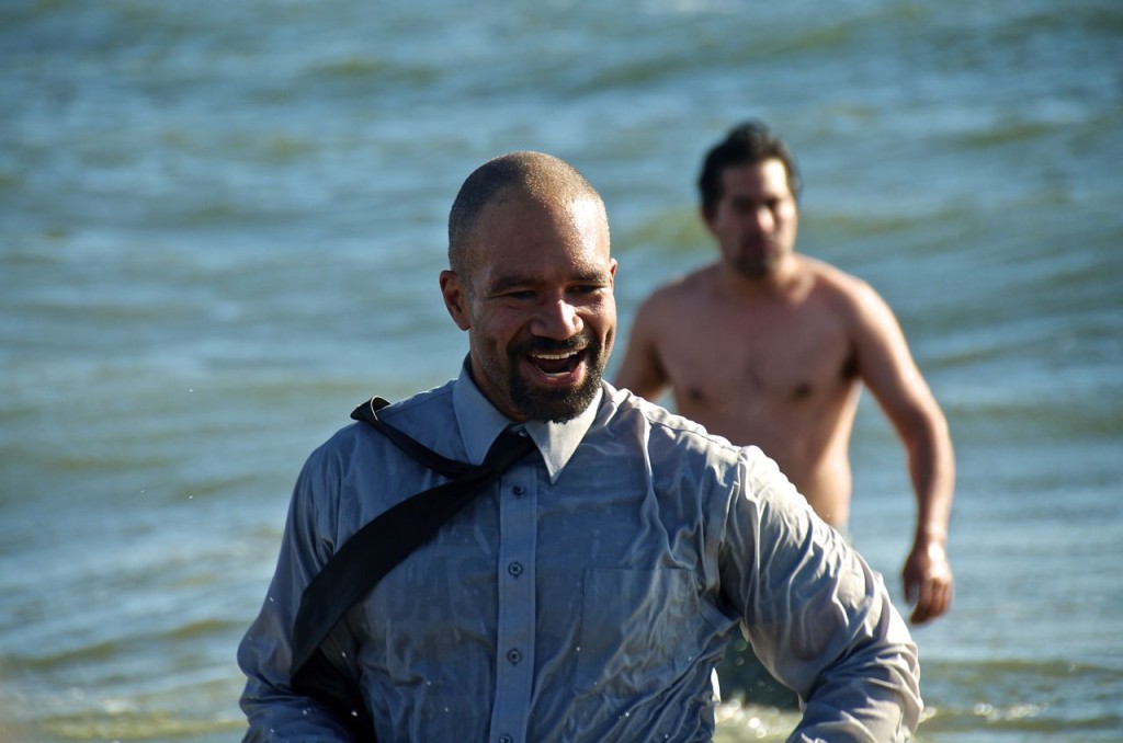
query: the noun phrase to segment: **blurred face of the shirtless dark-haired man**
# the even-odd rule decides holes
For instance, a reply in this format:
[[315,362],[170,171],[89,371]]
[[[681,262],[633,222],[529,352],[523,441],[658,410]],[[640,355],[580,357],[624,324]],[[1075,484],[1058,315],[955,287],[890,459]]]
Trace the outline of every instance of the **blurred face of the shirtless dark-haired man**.
[[748,278],[773,274],[795,250],[800,214],[778,159],[721,172],[722,195],[704,215],[722,259]]

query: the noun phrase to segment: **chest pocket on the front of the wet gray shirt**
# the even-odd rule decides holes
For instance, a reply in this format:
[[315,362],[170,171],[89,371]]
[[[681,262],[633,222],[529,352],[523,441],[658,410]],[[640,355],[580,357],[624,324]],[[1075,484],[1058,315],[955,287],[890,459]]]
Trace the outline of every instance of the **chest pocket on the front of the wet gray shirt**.
[[576,691],[629,697],[678,677],[705,634],[701,603],[690,570],[585,570]]

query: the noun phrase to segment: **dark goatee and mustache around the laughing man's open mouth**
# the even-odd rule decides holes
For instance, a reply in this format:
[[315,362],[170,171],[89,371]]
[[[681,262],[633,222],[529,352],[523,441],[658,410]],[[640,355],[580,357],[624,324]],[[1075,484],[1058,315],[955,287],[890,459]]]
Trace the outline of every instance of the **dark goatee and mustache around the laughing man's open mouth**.
[[[587,341],[587,342],[586,342]],[[585,365],[588,374],[585,382],[568,389],[531,387],[519,375],[519,361],[529,352],[560,352],[585,343]],[[508,350],[510,364],[509,388],[514,407],[533,421],[565,423],[581,415],[596,398],[604,376],[604,346],[595,338],[574,337],[567,341],[537,340],[521,343]]]

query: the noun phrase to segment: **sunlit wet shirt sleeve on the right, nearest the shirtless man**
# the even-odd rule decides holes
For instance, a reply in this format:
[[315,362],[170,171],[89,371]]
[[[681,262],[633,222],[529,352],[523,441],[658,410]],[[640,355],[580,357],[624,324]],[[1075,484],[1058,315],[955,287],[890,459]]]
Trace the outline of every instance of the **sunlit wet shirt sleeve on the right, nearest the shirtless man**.
[[722,585],[760,661],[803,701],[789,740],[909,740],[923,706],[916,646],[882,577],[758,449],[742,466]]

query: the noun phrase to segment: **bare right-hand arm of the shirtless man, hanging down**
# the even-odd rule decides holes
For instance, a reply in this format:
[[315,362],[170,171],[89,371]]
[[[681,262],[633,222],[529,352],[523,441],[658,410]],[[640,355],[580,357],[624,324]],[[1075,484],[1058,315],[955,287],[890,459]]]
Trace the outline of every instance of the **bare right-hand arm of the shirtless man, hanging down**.
[[903,578],[905,598],[915,604],[910,618],[923,624],[951,607],[955,591],[947,553],[956,480],[951,435],[893,311],[866,284],[855,296],[859,374],[904,444],[916,495],[916,530]]

